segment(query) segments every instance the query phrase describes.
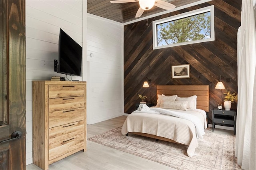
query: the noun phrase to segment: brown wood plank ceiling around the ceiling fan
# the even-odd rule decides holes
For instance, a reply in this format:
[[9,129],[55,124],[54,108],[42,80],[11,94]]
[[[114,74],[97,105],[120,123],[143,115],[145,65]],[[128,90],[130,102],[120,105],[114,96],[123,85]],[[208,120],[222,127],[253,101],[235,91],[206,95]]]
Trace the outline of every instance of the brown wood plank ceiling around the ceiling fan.
[[[164,1],[174,4],[177,8],[200,0]],[[120,23],[126,23],[138,19],[135,18],[135,15],[139,7],[140,6],[138,2],[111,4],[110,0],[87,0],[87,13],[107,18]],[[152,9],[148,10],[148,16],[163,11],[166,10],[154,6]],[[146,17],[146,12],[144,12],[140,18],[142,17]]]

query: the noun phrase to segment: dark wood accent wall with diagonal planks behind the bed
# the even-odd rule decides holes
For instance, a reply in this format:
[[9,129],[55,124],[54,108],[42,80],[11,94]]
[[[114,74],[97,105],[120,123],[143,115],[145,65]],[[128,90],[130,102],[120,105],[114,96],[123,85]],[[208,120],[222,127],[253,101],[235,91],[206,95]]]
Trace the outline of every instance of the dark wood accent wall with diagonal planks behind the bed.
[[[209,85],[210,111],[226,90],[237,92],[237,31],[241,0],[213,0],[124,26],[124,113],[132,113],[138,94],[156,105],[156,85]],[[215,41],[153,50],[152,21],[214,5]],[[190,78],[172,79],[171,65],[190,64]],[[215,89],[222,76],[226,89]],[[146,78],[150,87],[142,87]],[[236,103],[232,104],[236,109]],[[211,123],[211,120],[209,121]]]

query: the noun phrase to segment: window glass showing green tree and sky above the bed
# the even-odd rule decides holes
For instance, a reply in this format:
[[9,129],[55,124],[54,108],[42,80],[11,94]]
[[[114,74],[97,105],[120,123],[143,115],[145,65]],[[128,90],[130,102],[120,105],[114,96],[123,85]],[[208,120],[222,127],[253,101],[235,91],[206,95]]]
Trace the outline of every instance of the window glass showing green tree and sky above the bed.
[[157,24],[157,46],[208,39],[210,12]]

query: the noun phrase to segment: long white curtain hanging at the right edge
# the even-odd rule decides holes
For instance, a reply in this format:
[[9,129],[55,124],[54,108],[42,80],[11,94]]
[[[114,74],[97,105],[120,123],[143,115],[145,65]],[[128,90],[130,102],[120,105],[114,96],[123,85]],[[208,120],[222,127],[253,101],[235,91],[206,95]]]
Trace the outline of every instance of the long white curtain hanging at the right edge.
[[244,170],[256,170],[256,10],[242,0],[238,29],[238,108],[236,157]]

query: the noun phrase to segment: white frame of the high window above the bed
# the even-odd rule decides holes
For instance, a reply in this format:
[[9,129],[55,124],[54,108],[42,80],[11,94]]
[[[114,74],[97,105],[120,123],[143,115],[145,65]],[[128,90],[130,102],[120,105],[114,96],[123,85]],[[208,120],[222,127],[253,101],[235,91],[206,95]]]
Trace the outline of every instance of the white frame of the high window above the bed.
[[[169,44],[169,45],[157,46],[157,25],[158,24],[162,24],[162,23],[165,23],[165,22],[171,22],[171,21],[174,21],[174,20],[179,20],[179,19],[182,19],[182,18],[186,18],[186,17],[189,17],[189,16],[197,15],[197,14],[202,14],[202,13],[205,13],[205,12],[210,12],[210,30],[211,30],[210,38],[202,39],[202,40],[189,41],[189,42],[173,43],[173,44]],[[153,26],[153,49],[161,49],[161,48],[174,47],[174,46],[179,46],[179,45],[187,45],[187,44],[193,44],[193,43],[214,41],[215,40],[215,34],[214,34],[214,5],[207,6],[207,7],[204,7],[204,8],[200,8],[198,10],[193,10],[193,11],[190,11],[190,12],[185,12],[185,13],[178,14],[178,15],[175,15],[175,16],[170,16],[168,18],[163,18],[163,19],[160,19],[160,20],[153,21],[152,26]]]

